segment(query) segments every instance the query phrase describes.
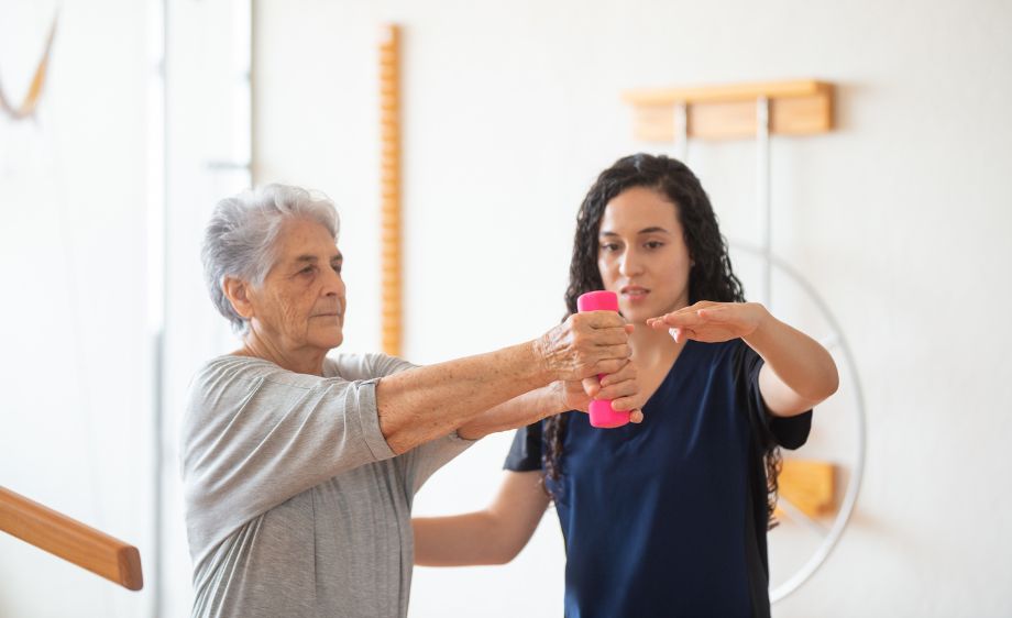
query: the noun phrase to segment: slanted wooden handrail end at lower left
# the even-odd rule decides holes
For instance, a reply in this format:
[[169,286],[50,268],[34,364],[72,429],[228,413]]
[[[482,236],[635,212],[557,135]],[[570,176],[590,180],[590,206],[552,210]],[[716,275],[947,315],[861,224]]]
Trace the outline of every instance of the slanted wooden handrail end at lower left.
[[0,530],[131,591],[144,586],[135,547],[2,486]]

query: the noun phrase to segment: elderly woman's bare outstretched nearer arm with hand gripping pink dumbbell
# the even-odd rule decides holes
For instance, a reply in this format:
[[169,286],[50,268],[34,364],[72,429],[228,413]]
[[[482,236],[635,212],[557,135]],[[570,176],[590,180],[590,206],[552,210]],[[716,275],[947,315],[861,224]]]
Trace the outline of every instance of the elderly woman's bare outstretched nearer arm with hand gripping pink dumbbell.
[[[475,439],[576,407],[561,380],[628,376],[629,328],[615,313],[576,313],[527,343],[384,377],[376,386],[380,429],[399,454],[454,430]],[[613,390],[634,388],[625,379]]]

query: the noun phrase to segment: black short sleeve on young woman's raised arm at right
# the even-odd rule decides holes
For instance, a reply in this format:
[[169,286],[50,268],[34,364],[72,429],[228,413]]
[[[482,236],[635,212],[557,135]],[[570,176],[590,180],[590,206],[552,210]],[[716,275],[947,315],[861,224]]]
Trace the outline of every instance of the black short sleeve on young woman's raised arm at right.
[[812,430],[812,410],[793,417],[778,417],[770,412],[759,390],[759,371],[766,361],[755,350],[741,342],[736,354],[736,383],[748,408],[749,422],[762,446],[783,446],[794,450],[809,440]]

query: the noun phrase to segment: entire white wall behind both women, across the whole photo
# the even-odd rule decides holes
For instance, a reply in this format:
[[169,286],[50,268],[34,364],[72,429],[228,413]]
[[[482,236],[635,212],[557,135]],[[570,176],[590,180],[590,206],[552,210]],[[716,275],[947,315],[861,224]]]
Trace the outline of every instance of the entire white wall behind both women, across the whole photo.
[[[216,34],[230,36],[226,3],[170,3],[177,27],[188,25],[176,31],[188,49],[170,68],[177,84],[213,88],[201,71],[224,53]],[[13,99],[55,4],[0,3],[0,79]],[[61,7],[37,120],[0,115],[0,484],[138,544],[152,574],[153,15],[125,0]],[[535,336],[561,316],[583,192],[616,157],[658,150],[631,141],[623,89],[838,84],[837,131],[774,145],[774,240],[854,347],[868,467],[840,547],[774,611],[1012,613],[1012,498],[1001,492],[1012,471],[1002,320],[1012,301],[1002,285],[1012,264],[1012,7],[260,0],[254,172],[337,200],[349,351],[380,341],[375,43],[386,20],[405,26],[405,355],[420,363]],[[195,363],[229,344],[194,279],[208,198],[235,188],[201,172],[222,156],[230,112],[193,95],[169,110],[169,432]],[[754,240],[749,144],[696,145],[690,163],[725,232]],[[504,287],[527,302],[497,304]],[[486,439],[437,474],[417,512],[484,505],[508,441]],[[168,482],[175,453],[164,456]],[[189,606],[178,507],[170,495],[163,514],[176,521],[161,575],[173,616]],[[411,615],[557,616],[562,566],[550,514],[510,565],[416,571]],[[151,585],[129,593],[0,534],[3,618],[140,616]]]

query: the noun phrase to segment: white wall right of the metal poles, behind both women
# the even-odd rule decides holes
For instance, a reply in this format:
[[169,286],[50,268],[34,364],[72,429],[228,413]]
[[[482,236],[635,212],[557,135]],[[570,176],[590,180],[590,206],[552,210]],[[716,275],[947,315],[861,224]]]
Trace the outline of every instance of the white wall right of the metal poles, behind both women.
[[[405,26],[406,356],[531,338],[561,314],[573,216],[630,139],[625,88],[817,77],[838,130],[773,148],[774,249],[850,340],[869,417],[858,514],[782,616],[1012,613],[1012,7],[1000,1],[257,2],[255,173],[341,209],[348,347],[378,346],[375,30]],[[755,240],[750,146],[690,163]],[[496,302],[521,289],[524,306]],[[416,512],[486,503],[508,437]],[[413,616],[554,616],[550,516],[505,567],[416,571]],[[663,576],[659,574],[658,576]]]

